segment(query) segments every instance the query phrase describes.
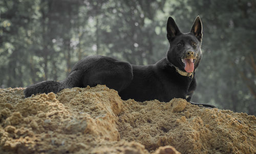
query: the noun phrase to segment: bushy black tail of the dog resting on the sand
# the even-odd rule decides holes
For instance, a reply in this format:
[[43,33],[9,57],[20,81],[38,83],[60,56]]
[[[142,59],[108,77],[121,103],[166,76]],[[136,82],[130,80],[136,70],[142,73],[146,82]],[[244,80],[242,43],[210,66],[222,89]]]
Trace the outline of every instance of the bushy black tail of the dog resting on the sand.
[[25,97],[29,97],[32,94],[38,94],[38,93],[48,94],[49,92],[57,93],[65,88],[80,87],[81,85],[79,83],[79,81],[81,81],[80,79],[81,79],[80,71],[74,70],[69,74],[69,76],[65,80],[61,82],[43,81],[43,82],[39,82],[37,84],[28,86],[25,89],[24,94],[25,94]]

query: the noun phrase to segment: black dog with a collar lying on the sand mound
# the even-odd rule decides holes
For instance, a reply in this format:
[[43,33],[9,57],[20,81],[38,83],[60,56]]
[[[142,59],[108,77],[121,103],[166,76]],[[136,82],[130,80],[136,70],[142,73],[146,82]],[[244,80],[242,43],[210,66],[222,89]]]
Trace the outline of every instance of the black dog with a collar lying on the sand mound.
[[117,90],[124,100],[168,102],[184,98],[190,101],[196,89],[195,70],[202,56],[200,17],[196,18],[190,33],[181,33],[172,17],[168,18],[166,29],[169,49],[166,57],[154,65],[131,65],[110,57],[89,56],[77,62],[65,80],[31,85],[25,90],[25,96],[100,84]]

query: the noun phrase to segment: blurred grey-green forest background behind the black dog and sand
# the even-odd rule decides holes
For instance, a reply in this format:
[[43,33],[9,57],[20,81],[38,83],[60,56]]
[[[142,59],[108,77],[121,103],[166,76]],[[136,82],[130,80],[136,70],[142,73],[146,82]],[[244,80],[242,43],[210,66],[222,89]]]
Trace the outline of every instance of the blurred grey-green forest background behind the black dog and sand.
[[198,15],[203,58],[193,101],[256,115],[255,0],[1,0],[0,86],[63,80],[89,55],[154,64],[168,48],[167,18],[187,33]]

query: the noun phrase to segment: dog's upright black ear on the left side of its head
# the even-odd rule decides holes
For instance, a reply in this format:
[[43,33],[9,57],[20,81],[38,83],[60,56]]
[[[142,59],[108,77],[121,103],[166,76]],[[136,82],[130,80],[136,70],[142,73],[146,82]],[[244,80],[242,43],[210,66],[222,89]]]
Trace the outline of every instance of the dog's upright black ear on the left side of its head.
[[177,27],[172,17],[168,18],[166,30],[167,30],[167,39],[170,41],[173,40],[180,33],[180,30]]

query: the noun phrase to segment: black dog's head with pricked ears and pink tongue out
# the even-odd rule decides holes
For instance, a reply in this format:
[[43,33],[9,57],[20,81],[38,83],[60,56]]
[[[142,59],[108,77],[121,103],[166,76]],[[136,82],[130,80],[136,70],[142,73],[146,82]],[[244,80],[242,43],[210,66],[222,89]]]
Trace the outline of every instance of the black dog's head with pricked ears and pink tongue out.
[[186,72],[193,72],[202,56],[202,22],[198,16],[189,33],[181,33],[172,17],[167,21],[169,49],[167,59],[170,63]]

